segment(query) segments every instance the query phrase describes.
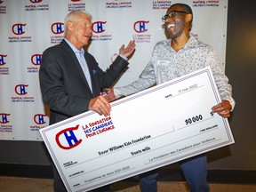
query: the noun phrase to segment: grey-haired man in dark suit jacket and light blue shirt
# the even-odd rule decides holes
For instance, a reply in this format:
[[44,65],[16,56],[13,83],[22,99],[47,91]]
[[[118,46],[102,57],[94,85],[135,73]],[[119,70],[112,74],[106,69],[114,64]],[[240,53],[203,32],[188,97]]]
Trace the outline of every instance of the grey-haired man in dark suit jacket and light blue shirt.
[[[134,41],[119,49],[119,56],[103,71],[94,57],[84,51],[92,36],[92,16],[84,11],[69,12],[65,18],[65,38],[60,44],[46,49],[43,53],[39,80],[44,103],[51,110],[50,124],[88,110],[108,116],[111,107],[108,96],[100,90],[115,83],[127,67],[127,57],[135,48]],[[54,190],[66,191],[54,165]],[[100,191],[108,191],[101,188]]]

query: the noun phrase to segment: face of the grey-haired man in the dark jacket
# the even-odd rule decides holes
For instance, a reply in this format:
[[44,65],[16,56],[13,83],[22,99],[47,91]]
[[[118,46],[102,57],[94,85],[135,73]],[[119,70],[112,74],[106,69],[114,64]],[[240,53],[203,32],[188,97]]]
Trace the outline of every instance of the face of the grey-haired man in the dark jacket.
[[89,43],[92,36],[92,21],[89,16],[78,13],[67,24],[68,33],[66,38],[76,46],[77,50],[81,50],[84,45]]

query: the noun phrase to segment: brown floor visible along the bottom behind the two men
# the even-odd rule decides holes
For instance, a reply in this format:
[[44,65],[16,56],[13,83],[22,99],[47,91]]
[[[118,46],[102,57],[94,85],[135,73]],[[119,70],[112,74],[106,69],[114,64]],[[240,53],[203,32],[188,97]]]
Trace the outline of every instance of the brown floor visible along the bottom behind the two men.
[[[256,185],[210,183],[211,192],[256,192]],[[140,192],[138,182],[120,181],[111,185],[113,192]],[[52,192],[51,179],[0,176],[0,192]],[[189,192],[186,182],[158,182],[158,192]]]

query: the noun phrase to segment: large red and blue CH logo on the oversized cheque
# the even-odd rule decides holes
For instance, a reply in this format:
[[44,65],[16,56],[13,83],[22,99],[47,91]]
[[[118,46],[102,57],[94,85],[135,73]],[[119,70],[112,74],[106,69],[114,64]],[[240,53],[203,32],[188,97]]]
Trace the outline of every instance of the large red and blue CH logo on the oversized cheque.
[[[62,130],[62,131],[58,132],[55,136],[55,140],[57,142],[57,145],[60,148],[63,148],[65,150],[68,150],[68,149],[71,149],[71,148],[76,148],[76,146],[78,146],[82,142],[82,140],[77,140],[76,139],[76,135],[74,133],[74,131],[76,131],[78,129],[78,127],[79,127],[79,124],[77,124],[76,127],[69,127],[65,130]],[[67,140],[68,146],[61,144],[60,136],[62,134],[64,135],[65,140]]]

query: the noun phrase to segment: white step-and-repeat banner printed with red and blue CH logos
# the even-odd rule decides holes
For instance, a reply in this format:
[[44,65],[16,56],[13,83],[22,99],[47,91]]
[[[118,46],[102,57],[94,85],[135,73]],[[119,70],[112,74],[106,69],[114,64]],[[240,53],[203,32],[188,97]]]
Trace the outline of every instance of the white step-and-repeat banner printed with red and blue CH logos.
[[155,44],[166,38],[162,16],[171,4],[189,4],[194,12],[191,33],[216,50],[225,68],[228,0],[0,0],[0,140],[42,140],[49,123],[38,71],[44,50],[64,37],[68,12],[92,14],[88,52],[102,69],[115,60],[119,47],[135,40],[129,69],[116,86],[140,76]]

